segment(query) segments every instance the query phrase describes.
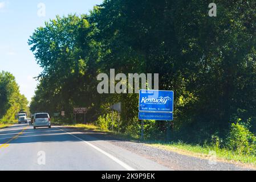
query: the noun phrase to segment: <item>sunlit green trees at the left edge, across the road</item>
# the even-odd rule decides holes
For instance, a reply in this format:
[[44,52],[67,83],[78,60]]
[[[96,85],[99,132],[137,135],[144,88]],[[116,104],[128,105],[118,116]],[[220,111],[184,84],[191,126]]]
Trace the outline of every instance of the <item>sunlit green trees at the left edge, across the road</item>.
[[11,122],[21,110],[27,109],[26,97],[19,92],[15,78],[9,72],[0,72],[0,122]]

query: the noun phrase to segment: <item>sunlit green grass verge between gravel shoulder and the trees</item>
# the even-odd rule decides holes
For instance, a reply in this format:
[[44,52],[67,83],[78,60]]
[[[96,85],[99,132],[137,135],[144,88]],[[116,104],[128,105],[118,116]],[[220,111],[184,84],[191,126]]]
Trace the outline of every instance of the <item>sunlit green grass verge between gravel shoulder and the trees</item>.
[[[83,130],[92,130],[92,131],[101,131],[112,135],[113,137],[130,140],[130,141],[138,141],[139,138],[131,137],[131,135],[123,134],[123,133],[112,133],[109,130],[101,130],[100,127],[95,125],[66,125],[70,127],[76,127]],[[216,152],[217,159],[223,162],[232,162],[238,164],[249,164],[249,167],[256,168],[256,156],[253,155],[241,155],[237,154],[233,151],[227,150],[225,148],[217,148],[217,147],[210,147],[210,146],[200,146],[200,145],[192,145],[188,143],[182,142],[172,142],[172,143],[164,143],[164,142],[152,142],[149,140],[145,140],[144,143],[148,144],[152,147],[162,148],[164,150],[177,152],[179,154],[195,156],[198,158],[209,159],[210,151]],[[248,165],[247,165],[248,167]]]

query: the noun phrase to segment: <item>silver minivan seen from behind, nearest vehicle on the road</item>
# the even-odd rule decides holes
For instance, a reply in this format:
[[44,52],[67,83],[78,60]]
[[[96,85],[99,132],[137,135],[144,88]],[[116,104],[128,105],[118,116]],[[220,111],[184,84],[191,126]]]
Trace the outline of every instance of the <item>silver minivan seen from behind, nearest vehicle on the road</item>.
[[36,113],[34,114],[34,129],[36,127],[48,127],[51,128],[51,118],[48,113]]

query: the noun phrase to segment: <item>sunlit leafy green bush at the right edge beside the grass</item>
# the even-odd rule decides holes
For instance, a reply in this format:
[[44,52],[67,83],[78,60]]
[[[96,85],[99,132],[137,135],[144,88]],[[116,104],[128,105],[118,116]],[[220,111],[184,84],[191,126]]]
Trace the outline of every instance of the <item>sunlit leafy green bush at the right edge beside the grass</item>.
[[256,154],[256,137],[249,129],[237,122],[231,125],[227,147],[238,154]]

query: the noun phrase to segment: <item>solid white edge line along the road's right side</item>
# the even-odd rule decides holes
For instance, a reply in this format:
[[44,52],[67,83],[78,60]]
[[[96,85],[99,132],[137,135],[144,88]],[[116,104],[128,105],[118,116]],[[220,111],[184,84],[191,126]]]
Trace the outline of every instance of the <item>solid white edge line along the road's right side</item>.
[[[59,130],[62,130],[58,127]],[[128,166],[127,164],[125,164],[124,162],[122,162],[121,160],[117,159],[115,156],[108,154],[108,152],[105,152],[104,150],[101,150],[99,147],[96,147],[94,144],[91,144],[85,140],[83,140],[82,138],[76,137],[75,135],[69,133],[68,131],[62,130],[64,132],[66,132],[67,134],[72,135],[73,137],[81,140],[82,142],[88,144],[89,146],[91,146],[92,148],[96,149],[97,151],[101,152],[102,154],[104,154],[105,156],[108,156],[108,158],[112,159],[113,161],[115,161],[117,164],[119,164],[120,166],[124,167],[125,169],[127,169],[128,171],[135,171],[135,169],[133,169],[132,167]]]

